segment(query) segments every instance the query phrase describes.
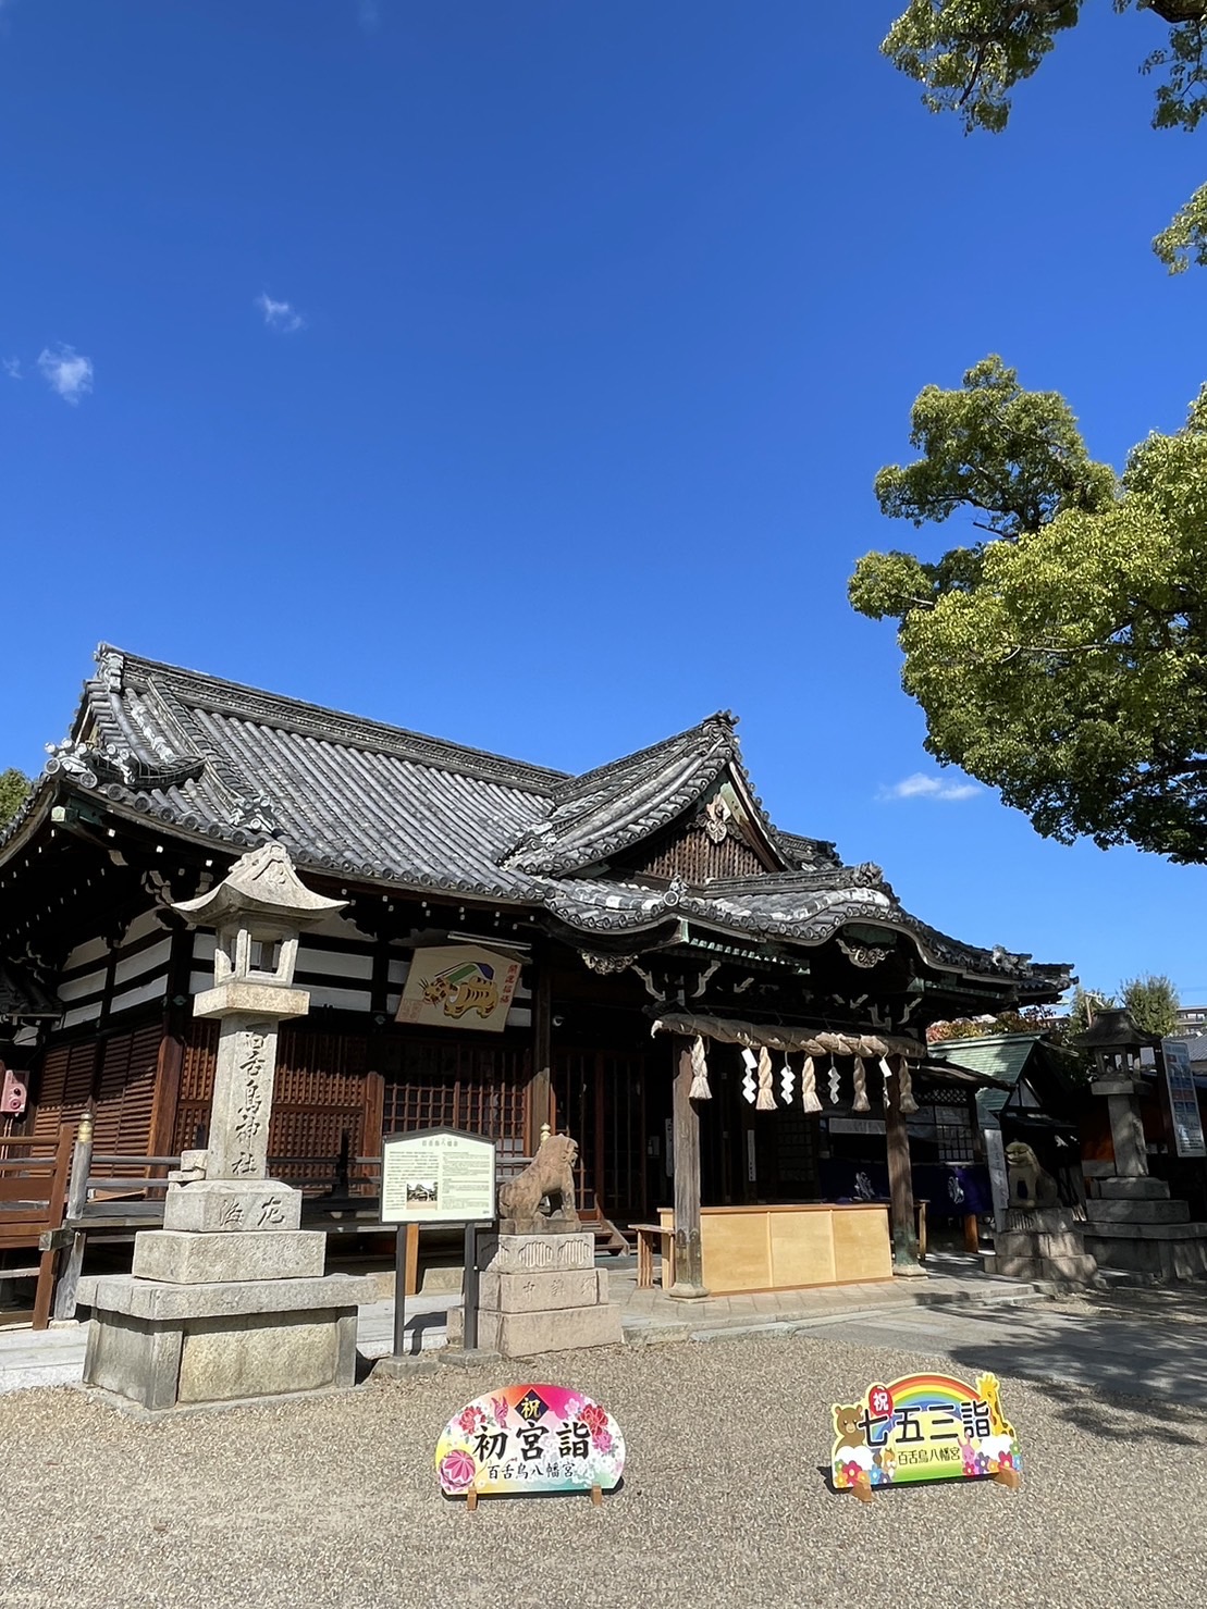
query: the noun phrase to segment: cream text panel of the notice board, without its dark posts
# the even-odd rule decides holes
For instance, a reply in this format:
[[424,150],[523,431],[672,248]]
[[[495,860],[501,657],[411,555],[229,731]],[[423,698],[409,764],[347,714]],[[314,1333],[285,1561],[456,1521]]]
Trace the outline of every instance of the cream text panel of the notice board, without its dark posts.
[[489,1223],[497,1216],[494,1141],[455,1128],[386,1134],[381,1223]]

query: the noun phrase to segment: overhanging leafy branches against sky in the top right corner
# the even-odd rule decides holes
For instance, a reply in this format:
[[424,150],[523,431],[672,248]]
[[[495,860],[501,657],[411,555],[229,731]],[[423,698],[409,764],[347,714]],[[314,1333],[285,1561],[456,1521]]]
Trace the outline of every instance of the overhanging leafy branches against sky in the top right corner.
[[[1115,11],[1152,11],[1165,42],[1139,71],[1156,74],[1154,129],[1197,129],[1207,114],[1207,3],[1114,0]],[[922,85],[930,111],[954,111],[964,130],[1001,134],[1011,93],[1036,72],[1061,34],[1081,21],[1083,0],[911,0],[880,50]],[[1207,185],[1175,216],[1152,248],[1170,274],[1207,262]]]

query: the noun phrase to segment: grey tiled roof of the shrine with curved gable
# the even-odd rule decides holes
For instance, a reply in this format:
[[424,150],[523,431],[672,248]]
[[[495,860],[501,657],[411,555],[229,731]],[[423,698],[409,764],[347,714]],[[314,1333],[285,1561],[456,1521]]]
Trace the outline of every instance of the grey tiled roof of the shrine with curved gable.
[[[777,832],[731,716],[571,777],[116,648],[97,658],[37,796],[58,779],[233,853],[275,835],[303,867],[525,904],[584,935],[679,917],[818,944],[847,922],[875,922],[912,936],[933,965],[1024,993],[1051,994],[1067,975],[945,938],[901,909],[877,867],[843,867],[832,845]],[[690,809],[726,771],[781,870],[663,890],[600,875],[600,862]]]

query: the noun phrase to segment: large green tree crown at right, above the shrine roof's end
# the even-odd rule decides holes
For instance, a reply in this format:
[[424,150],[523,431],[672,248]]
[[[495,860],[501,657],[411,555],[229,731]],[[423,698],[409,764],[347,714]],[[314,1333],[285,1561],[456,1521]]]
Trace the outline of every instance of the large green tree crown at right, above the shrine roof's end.
[[898,621],[925,747],[1046,837],[1207,861],[1207,388],[1120,481],[1064,397],[998,357],[927,386],[911,441],[882,510],[985,531],[933,563],[867,553],[850,582],[859,613]]

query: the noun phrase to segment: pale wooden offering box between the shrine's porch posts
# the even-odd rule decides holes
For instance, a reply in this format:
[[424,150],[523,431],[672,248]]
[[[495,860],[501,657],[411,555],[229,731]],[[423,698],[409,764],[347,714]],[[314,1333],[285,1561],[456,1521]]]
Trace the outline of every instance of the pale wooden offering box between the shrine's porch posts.
[[[669,1232],[674,1215],[658,1213]],[[888,1207],[702,1207],[703,1281],[711,1295],[892,1279]],[[663,1265],[665,1266],[665,1265]]]

